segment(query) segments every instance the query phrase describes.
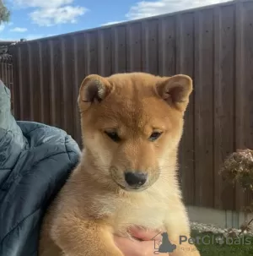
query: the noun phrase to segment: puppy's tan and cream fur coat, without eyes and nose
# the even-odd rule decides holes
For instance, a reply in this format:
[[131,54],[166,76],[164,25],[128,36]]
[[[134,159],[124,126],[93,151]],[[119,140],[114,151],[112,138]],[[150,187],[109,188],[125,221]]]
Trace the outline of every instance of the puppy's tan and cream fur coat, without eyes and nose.
[[[92,86],[98,89],[94,102]],[[177,245],[170,255],[200,255],[195,246],[178,244],[180,235],[190,237],[177,151],[191,90],[184,75],[89,75],[83,80],[78,97],[83,154],[45,217],[40,256],[122,256],[113,234],[129,236],[130,226],[167,231]],[[112,129],[121,142],[104,133]],[[163,133],[151,142],[153,131]],[[122,189],[126,170],[147,172],[148,182],[139,191]]]

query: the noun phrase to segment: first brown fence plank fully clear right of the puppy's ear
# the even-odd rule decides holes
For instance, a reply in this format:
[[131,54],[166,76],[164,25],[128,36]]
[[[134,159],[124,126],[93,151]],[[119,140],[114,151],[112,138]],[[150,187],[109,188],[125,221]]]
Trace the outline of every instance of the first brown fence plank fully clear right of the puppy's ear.
[[196,23],[195,154],[196,205],[213,207],[213,10]]

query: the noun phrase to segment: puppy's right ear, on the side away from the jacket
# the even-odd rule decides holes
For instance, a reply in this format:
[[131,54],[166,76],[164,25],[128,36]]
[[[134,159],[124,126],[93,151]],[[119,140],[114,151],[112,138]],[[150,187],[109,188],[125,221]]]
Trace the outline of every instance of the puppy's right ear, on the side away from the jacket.
[[174,106],[181,112],[186,111],[189,96],[192,91],[192,80],[184,74],[177,74],[157,84],[159,96],[170,106]]

